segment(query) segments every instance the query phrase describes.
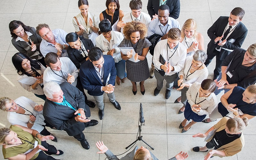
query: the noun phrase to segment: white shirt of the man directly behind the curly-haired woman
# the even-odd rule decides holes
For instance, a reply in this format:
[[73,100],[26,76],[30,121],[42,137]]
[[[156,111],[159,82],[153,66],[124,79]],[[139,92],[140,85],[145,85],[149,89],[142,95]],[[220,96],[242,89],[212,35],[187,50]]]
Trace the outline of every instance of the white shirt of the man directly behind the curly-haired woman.
[[[124,21],[124,23],[127,23],[127,22],[131,22],[132,20],[135,20],[135,19],[138,19],[141,23],[145,24],[147,26],[147,28],[151,22],[150,16],[147,13],[144,13],[142,11],[140,12],[140,16],[138,18],[135,18],[132,15],[132,12],[125,14],[124,17],[122,18],[122,21]],[[123,30],[124,29],[121,28],[121,33],[123,33]]]

